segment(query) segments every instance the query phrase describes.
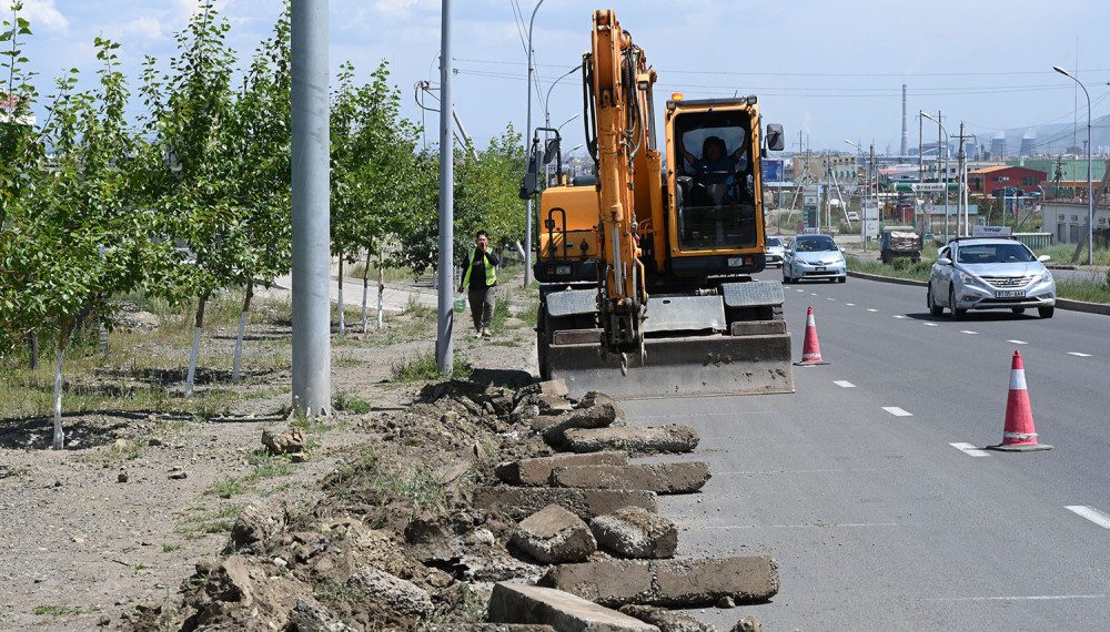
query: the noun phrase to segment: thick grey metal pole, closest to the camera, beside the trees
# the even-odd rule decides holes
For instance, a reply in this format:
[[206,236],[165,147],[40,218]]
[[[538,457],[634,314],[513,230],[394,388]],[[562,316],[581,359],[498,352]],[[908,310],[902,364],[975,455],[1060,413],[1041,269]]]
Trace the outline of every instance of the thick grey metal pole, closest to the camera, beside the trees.
[[291,40],[293,410],[315,416],[332,405],[327,0],[293,3]]

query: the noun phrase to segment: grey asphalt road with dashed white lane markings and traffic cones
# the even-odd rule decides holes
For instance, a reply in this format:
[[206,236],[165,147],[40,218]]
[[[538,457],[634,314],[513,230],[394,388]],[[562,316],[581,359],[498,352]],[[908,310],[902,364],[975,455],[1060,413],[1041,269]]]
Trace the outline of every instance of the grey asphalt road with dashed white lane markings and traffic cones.
[[[679,554],[780,563],[770,603],[693,614],[807,632],[1108,629],[1110,317],[955,322],[929,316],[924,288],[856,278],[786,294],[795,358],[813,305],[831,363],[797,367],[797,394],[625,404],[632,424],[702,434],[693,458],[713,479],[659,503]],[[1015,349],[1054,449],[952,447],[1001,441]]]

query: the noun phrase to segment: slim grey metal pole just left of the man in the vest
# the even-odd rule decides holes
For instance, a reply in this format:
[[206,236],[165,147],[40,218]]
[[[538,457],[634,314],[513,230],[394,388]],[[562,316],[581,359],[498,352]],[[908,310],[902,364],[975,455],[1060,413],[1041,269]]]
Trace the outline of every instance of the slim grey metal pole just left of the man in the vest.
[[[451,136],[451,0],[443,0],[440,22],[440,261],[438,318],[435,327],[435,365],[441,374],[454,368],[455,313],[453,295],[455,256],[455,144]],[[529,92],[531,93],[531,92]]]

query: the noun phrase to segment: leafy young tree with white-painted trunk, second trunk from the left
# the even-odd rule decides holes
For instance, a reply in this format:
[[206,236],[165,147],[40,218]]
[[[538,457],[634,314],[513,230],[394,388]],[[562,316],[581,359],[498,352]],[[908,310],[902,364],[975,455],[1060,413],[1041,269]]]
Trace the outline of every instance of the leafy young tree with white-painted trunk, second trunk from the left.
[[240,142],[234,136],[230,28],[206,1],[176,35],[179,52],[170,71],[160,74],[153,58],[143,70],[142,92],[150,108],[144,132],[152,139],[142,156],[144,190],[164,234],[188,251],[168,271],[162,293],[175,302],[196,300],[185,396],[193,391],[205,304],[252,267],[248,215],[236,204],[233,175]]

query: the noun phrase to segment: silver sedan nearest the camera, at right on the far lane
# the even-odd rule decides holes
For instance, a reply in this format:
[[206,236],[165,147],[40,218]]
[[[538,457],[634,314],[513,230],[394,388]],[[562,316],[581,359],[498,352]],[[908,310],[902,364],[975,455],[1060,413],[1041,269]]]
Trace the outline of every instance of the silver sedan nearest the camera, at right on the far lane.
[[1009,238],[952,239],[940,248],[929,275],[926,304],[934,316],[945,308],[953,318],[968,309],[1010,309],[1021,314],[1036,307],[1041,318],[1056,312],[1056,281],[1021,242]]

